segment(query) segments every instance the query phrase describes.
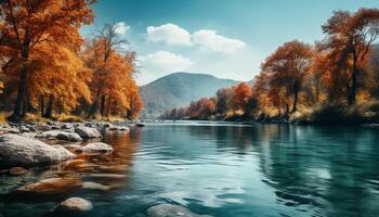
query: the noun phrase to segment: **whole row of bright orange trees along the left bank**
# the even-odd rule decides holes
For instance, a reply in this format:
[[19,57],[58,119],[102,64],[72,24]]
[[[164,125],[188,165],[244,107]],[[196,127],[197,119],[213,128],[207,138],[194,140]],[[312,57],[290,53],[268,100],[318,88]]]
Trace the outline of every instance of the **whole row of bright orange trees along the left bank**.
[[143,104],[133,74],[135,53],[118,25],[84,39],[95,0],[0,2],[1,111],[11,120],[27,113],[136,118]]

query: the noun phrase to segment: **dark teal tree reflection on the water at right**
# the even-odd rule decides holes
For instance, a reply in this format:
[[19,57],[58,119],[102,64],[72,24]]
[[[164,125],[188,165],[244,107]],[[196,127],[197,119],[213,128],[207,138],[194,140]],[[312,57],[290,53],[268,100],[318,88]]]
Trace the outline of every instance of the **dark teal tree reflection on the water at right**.
[[[376,216],[378,133],[360,128],[265,126],[258,145],[277,201],[319,216]],[[262,128],[262,127],[261,127]],[[374,189],[373,189],[374,187]]]

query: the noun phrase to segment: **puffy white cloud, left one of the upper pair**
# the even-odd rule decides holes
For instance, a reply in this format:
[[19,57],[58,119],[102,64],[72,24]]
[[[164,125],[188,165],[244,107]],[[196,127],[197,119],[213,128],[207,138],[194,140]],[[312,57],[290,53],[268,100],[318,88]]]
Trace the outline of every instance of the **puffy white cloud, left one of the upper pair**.
[[173,46],[192,46],[191,34],[174,24],[148,26],[147,39],[153,42],[166,42]]

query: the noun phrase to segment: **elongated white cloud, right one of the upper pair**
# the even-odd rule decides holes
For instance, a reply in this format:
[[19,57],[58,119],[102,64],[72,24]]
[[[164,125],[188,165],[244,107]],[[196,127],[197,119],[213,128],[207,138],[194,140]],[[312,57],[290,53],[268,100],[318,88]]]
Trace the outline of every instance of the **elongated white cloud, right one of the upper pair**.
[[223,53],[231,53],[246,46],[241,40],[226,38],[218,35],[215,30],[209,29],[201,29],[194,33],[193,42],[200,48]]

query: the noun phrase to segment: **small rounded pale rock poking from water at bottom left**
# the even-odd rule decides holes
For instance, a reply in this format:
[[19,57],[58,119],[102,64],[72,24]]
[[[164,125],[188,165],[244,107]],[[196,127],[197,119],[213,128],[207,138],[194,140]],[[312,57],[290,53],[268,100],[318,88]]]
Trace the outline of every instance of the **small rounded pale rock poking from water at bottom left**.
[[89,212],[93,208],[91,202],[80,197],[69,197],[66,201],[60,203],[55,208],[56,212]]

